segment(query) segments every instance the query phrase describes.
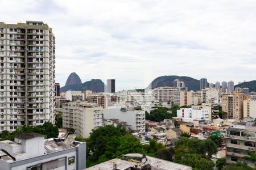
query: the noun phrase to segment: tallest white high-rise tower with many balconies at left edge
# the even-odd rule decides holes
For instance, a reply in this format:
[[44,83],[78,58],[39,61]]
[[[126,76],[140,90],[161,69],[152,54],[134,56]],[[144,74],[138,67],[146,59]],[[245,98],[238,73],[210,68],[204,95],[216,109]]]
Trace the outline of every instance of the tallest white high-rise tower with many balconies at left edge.
[[2,130],[54,121],[55,36],[43,22],[0,23]]

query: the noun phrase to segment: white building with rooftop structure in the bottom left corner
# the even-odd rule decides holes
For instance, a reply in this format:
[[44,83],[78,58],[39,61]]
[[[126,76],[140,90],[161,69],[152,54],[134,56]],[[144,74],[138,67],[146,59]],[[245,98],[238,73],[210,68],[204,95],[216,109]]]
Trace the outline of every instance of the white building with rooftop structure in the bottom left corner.
[[36,133],[16,135],[14,141],[0,142],[3,170],[85,169],[86,143],[68,139],[44,139]]

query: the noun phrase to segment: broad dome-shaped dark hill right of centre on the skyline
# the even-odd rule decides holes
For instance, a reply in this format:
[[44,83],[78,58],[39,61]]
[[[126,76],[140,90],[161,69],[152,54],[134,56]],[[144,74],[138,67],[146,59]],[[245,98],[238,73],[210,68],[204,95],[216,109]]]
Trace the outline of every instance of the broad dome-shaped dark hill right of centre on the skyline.
[[[154,79],[150,86],[151,88],[163,87],[163,86],[174,86],[174,80],[179,79],[185,83],[185,87],[188,87],[188,90],[197,91],[200,90],[200,80],[193,79],[189,76],[177,76],[177,75],[165,75],[159,76],[158,78]],[[148,86],[148,88],[150,88]]]

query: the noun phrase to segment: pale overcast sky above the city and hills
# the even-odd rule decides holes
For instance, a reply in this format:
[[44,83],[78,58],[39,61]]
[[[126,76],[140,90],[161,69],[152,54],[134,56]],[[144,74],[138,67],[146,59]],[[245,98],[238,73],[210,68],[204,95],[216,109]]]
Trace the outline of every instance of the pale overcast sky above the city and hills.
[[254,80],[256,1],[0,0],[0,22],[40,20],[56,37],[56,82],[116,79],[117,90],[162,75]]

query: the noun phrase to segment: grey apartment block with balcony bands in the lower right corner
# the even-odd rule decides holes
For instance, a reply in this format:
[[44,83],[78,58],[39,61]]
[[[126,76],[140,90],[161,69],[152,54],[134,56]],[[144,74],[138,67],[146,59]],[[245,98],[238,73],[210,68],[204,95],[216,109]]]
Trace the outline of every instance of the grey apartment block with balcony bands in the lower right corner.
[[246,125],[241,128],[225,129],[227,164],[245,162],[250,167],[256,168],[255,162],[242,159],[244,156],[249,156],[250,153],[256,154],[255,134],[255,122],[247,122]]

